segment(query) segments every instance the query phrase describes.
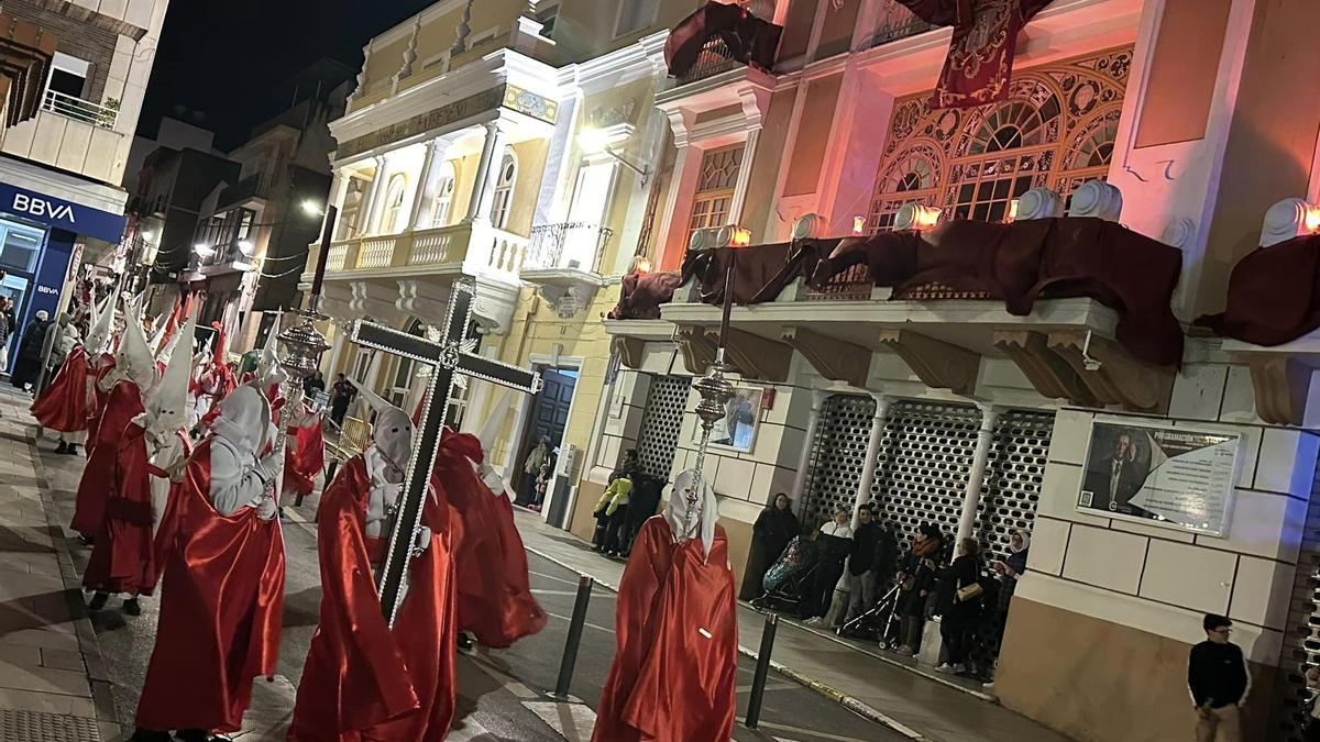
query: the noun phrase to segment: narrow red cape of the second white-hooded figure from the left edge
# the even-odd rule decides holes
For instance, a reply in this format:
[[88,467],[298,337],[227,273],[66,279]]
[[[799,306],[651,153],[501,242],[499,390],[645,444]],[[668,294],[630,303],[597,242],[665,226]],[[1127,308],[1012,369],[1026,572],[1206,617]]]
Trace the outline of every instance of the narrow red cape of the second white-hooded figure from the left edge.
[[106,502],[115,477],[119,441],[128,424],[144,412],[143,395],[137,384],[124,379],[116,382],[106,397],[95,437],[87,436],[87,466],[78,481],[74,503],[73,529],[88,539],[102,535],[106,527]]

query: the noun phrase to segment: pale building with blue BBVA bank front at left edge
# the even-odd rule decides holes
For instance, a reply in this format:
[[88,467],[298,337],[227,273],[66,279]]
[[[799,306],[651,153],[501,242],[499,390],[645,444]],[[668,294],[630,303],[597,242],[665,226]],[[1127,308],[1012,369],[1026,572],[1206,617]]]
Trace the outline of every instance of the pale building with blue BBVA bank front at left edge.
[[0,267],[7,272],[0,293],[15,300],[20,327],[40,310],[53,317],[78,265],[120,244],[127,203],[120,181],[168,4],[128,0],[98,9],[20,0],[4,7],[11,37],[34,29],[49,55],[22,88],[36,111],[24,120],[9,116],[0,144]]

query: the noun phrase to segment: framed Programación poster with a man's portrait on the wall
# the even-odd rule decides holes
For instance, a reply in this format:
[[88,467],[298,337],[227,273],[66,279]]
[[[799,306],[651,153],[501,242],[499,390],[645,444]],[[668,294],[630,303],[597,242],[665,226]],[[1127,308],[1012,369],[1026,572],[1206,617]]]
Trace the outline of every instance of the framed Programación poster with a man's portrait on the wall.
[[1239,433],[1097,417],[1077,510],[1225,536],[1241,449]]

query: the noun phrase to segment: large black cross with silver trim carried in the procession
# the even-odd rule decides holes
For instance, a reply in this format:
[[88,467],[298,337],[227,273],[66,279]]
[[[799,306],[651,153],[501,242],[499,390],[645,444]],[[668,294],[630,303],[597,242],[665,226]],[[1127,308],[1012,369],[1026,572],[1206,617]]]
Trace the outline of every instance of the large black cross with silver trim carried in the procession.
[[389,532],[385,562],[376,576],[376,590],[385,621],[393,626],[403,603],[408,578],[408,565],[416,533],[421,528],[422,506],[430,486],[430,471],[436,463],[440,436],[445,425],[445,408],[459,376],[491,382],[525,393],[541,388],[541,375],[508,363],[491,360],[470,353],[467,337],[475,290],[471,281],[457,281],[449,298],[449,310],[438,342],[409,335],[391,327],[359,320],[352,326],[352,339],[363,347],[381,350],[409,358],[432,367],[426,393],[422,397],[421,420],[413,433],[413,452],[400,492],[395,524]]

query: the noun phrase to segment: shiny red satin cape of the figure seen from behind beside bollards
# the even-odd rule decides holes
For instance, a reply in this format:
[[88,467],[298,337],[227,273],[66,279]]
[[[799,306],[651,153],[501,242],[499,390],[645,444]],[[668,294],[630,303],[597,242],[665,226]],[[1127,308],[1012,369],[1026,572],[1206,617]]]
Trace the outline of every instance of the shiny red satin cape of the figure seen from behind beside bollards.
[[645,522],[619,582],[614,664],[593,742],[725,742],[733,734],[738,613],[729,541],[715,525],[675,544],[669,523]]

